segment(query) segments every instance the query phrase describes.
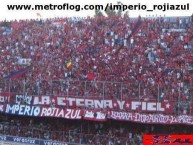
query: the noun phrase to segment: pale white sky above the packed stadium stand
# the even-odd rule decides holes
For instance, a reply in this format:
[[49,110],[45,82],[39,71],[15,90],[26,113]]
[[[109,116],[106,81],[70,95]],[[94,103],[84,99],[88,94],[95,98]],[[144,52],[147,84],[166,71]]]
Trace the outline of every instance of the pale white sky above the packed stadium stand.
[[87,17],[93,16],[94,10],[90,11],[70,11],[70,10],[8,10],[7,5],[49,5],[49,4],[59,4],[63,5],[68,3],[70,5],[93,5],[100,4],[106,5],[107,3],[116,4],[120,1],[124,5],[145,5],[147,9],[152,9],[154,5],[162,5],[159,7],[163,8],[164,3],[167,5],[187,5],[189,4],[189,10],[154,10],[149,12],[146,10],[130,10],[129,15],[131,17],[137,17],[141,15],[142,17],[156,17],[156,16],[190,16],[193,14],[193,0],[1,0],[0,3],[0,20],[14,20],[14,19],[37,19],[41,18],[54,18],[54,17]]

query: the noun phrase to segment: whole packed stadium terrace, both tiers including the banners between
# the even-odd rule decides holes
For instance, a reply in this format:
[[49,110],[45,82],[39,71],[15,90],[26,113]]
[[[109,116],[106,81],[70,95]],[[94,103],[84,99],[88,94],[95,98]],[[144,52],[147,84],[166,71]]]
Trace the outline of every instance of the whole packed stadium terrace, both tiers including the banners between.
[[193,15],[0,22],[0,144],[193,134],[192,30]]

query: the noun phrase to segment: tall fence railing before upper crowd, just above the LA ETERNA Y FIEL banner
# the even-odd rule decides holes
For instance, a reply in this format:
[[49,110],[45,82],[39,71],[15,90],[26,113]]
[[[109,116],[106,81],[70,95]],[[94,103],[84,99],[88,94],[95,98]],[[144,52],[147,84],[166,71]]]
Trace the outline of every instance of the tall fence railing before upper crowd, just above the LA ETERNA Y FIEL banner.
[[78,80],[1,80],[0,91],[9,94],[32,96],[59,96],[117,100],[149,100],[174,102],[177,114],[192,113],[192,83],[156,84],[143,81],[107,82]]

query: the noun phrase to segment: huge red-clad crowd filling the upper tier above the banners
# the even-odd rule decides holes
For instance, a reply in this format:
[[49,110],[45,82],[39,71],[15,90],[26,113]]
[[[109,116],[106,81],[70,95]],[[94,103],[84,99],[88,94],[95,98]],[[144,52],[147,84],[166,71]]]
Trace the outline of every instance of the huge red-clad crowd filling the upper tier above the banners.
[[[31,65],[24,77],[2,79],[3,92],[191,99],[191,17],[55,18],[0,25],[0,78]],[[29,61],[19,64],[22,59]]]

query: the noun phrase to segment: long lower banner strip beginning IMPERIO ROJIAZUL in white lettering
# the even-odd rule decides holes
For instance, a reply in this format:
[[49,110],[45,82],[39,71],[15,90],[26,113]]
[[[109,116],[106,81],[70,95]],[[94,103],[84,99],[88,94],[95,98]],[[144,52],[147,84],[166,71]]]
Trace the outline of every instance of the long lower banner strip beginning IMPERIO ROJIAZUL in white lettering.
[[94,121],[106,121],[107,119],[146,123],[146,124],[187,124],[193,125],[193,116],[188,115],[163,115],[142,114],[118,111],[100,111],[84,109],[63,109],[58,107],[41,107],[34,105],[0,104],[0,112],[33,116],[33,117],[56,117],[66,119],[85,119]]

